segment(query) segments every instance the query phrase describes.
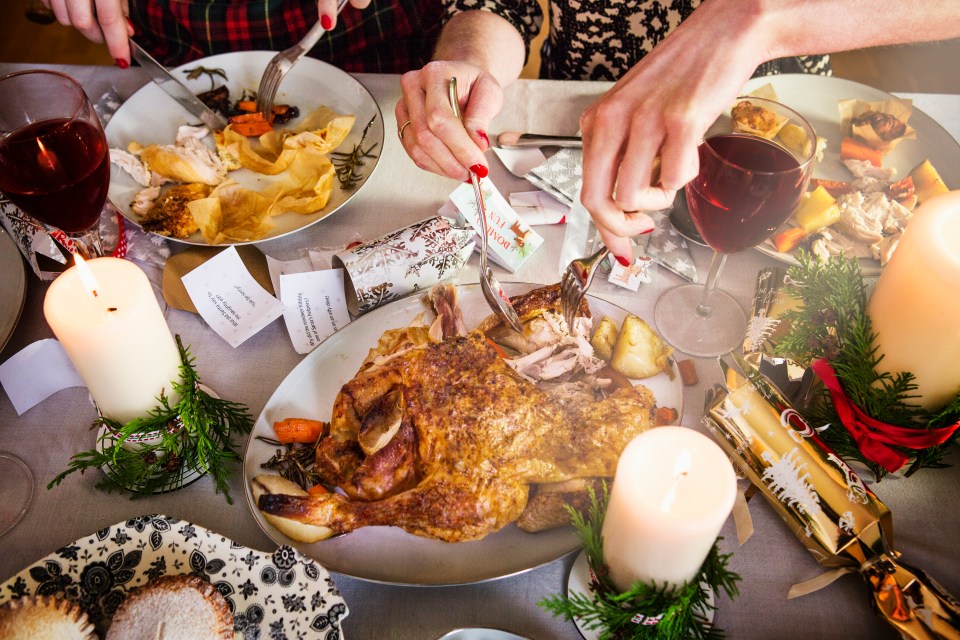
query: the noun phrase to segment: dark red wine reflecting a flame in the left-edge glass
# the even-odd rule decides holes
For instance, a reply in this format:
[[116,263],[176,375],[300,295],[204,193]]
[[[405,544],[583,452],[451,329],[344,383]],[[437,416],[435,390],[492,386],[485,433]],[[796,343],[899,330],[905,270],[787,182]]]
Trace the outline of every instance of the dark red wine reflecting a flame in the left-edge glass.
[[0,191],[67,233],[97,224],[109,183],[106,139],[82,120],[44,120],[0,141]]

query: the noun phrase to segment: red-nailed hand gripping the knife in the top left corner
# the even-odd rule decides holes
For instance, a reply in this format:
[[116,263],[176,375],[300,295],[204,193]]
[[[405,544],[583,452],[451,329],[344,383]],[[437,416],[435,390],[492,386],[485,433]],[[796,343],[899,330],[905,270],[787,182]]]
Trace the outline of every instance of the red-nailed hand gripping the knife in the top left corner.
[[130,66],[133,25],[127,19],[127,0],[43,0],[57,21],[72,26],[93,42],[105,42],[117,66]]

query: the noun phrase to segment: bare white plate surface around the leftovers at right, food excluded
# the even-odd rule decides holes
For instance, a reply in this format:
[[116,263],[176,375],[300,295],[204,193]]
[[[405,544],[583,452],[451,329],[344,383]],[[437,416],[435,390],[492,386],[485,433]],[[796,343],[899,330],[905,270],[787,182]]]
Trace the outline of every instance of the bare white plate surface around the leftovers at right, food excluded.
[[[810,122],[818,136],[827,139],[823,161],[817,163],[813,171],[813,177],[826,180],[848,182],[852,179],[840,161],[843,134],[840,132],[839,102],[847,99],[867,102],[898,99],[885,91],[852,80],[808,74],[753,78],[746,84],[743,93],[750,93],[767,83],[773,85],[780,102],[797,110]],[[911,169],[929,158],[948,187],[960,188],[960,144],[933,118],[916,107],[913,108],[909,123],[916,129],[916,139],[900,142],[886,156],[884,166],[896,169],[898,179],[905,178]],[[797,264],[791,253],[781,253],[771,244],[760,244],[757,249],[783,262]],[[864,258],[860,264],[864,273],[880,272],[877,260]]]

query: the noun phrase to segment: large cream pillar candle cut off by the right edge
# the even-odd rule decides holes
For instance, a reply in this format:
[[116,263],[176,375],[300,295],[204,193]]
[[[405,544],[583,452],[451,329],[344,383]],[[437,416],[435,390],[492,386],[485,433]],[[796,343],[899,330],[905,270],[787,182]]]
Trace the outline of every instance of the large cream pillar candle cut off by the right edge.
[[870,297],[880,371],[916,376],[917,404],[939,409],[960,392],[960,191],[914,213]]

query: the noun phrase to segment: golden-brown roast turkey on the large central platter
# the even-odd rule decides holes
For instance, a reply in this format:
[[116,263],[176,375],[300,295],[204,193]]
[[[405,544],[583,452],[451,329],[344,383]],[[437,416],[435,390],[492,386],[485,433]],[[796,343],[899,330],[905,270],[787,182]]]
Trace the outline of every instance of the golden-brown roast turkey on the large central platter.
[[[539,300],[533,309],[517,301],[529,322],[558,304],[557,288],[526,299]],[[440,342],[413,334],[388,334],[399,346],[368,358],[336,398],[315,470],[342,493],[266,494],[263,512],[334,534],[392,525],[475,540],[516,521],[533,485],[613,476],[624,446],[654,425],[642,385],[558,398],[509,366],[481,329]]]

